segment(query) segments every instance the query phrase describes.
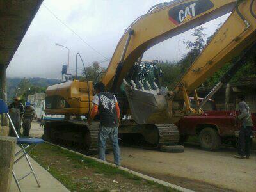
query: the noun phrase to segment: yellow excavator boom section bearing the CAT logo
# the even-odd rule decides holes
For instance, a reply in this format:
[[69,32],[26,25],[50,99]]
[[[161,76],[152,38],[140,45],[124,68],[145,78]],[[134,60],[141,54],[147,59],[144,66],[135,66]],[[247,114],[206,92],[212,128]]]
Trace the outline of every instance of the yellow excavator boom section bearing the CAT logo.
[[235,0],[183,0],[160,4],[136,19],[118,42],[102,82],[120,87],[134,62],[153,45],[232,12]]

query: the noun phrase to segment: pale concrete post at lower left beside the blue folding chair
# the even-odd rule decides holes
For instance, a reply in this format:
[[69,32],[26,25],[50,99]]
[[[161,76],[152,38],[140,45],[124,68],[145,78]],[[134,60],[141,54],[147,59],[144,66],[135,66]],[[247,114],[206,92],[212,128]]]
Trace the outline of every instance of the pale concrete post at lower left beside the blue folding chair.
[[10,191],[16,138],[0,136],[0,191]]

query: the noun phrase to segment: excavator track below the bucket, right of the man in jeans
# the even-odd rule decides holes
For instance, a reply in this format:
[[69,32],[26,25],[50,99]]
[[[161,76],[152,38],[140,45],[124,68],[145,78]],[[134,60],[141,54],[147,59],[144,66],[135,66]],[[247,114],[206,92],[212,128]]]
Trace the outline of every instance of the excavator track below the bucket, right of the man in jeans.
[[138,125],[132,120],[123,120],[119,132],[122,144],[132,147],[158,149],[179,143],[179,129],[175,124]]

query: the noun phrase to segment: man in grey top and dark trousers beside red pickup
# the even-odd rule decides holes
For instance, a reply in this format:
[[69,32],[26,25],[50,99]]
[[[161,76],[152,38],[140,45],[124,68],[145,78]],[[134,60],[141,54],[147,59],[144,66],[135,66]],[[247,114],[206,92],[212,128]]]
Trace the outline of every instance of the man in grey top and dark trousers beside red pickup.
[[249,159],[253,128],[252,114],[248,104],[245,102],[245,96],[243,94],[237,95],[236,101],[238,102],[239,108],[239,115],[237,116],[237,120],[242,123],[242,127],[239,131],[239,155],[236,155],[235,157],[240,159]]

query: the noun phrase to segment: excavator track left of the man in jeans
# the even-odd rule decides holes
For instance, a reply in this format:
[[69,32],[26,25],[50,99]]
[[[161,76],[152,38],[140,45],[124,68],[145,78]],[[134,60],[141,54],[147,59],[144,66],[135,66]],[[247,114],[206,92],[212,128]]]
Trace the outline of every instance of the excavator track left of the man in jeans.
[[[98,153],[99,122],[88,125],[77,120],[54,120],[44,124],[44,138],[46,141],[76,150],[83,154],[93,155]],[[111,152],[109,139],[106,151]]]

